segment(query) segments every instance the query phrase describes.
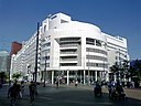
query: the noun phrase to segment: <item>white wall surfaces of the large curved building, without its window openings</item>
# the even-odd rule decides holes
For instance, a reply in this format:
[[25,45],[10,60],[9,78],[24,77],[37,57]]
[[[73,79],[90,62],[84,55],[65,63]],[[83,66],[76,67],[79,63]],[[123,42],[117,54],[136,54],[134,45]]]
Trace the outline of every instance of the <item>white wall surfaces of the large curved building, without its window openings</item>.
[[[47,40],[47,38],[50,36],[50,40]],[[61,38],[80,38],[80,42],[82,42],[82,46],[79,46],[79,51],[78,51],[78,55],[82,56],[79,60],[79,62],[82,62],[80,66],[62,66],[62,68],[59,67],[59,43],[57,40],[59,40]],[[107,43],[108,47],[104,47],[104,46],[96,46],[96,45],[88,45],[86,44],[86,38],[90,38],[90,39],[96,39],[96,40],[100,40],[105,43]],[[115,56],[117,54],[115,54],[115,51],[117,51],[116,49],[120,49],[122,51],[122,53],[127,53],[128,54],[128,50],[127,50],[127,40],[124,38],[115,38],[112,35],[108,35],[106,33],[102,33],[101,30],[94,25],[94,24],[89,24],[89,23],[85,23],[85,22],[78,22],[78,21],[72,21],[69,15],[63,14],[63,13],[57,13],[54,14],[52,17],[48,17],[47,19],[45,19],[42,22],[42,25],[40,26],[40,40],[46,40],[46,43],[51,42],[51,46],[50,47],[50,53],[47,55],[50,55],[50,61],[47,61],[50,63],[50,67],[47,67],[47,70],[88,70],[89,67],[86,66],[86,62],[88,62],[88,60],[86,59],[86,55],[88,55],[88,52],[86,51],[86,47],[91,47],[91,49],[98,49],[98,50],[102,50],[105,52],[108,52],[108,55],[105,54],[100,54],[100,53],[89,53],[91,55],[97,55],[97,56],[101,56],[101,57],[106,57],[108,59],[108,63],[107,64],[112,64],[115,61]],[[42,41],[40,42],[42,43]],[[20,57],[20,52],[19,54],[15,55],[14,57],[14,62],[12,63],[21,63],[20,65],[17,64],[17,66],[13,66],[12,70],[14,71],[22,71],[21,68],[24,68],[23,72],[26,73],[25,66],[28,66],[28,64],[31,65],[31,71],[34,71],[35,67],[35,49],[36,49],[36,40],[35,40],[35,34],[33,34],[23,45],[23,49],[21,51],[24,51],[24,55],[25,59],[24,62],[22,62]],[[112,46],[112,47],[109,47]],[[45,49],[41,49],[39,50],[39,55],[41,60],[39,60],[39,62],[43,63],[42,57],[45,56]],[[124,55],[127,55],[124,54]],[[79,57],[78,56],[78,57]],[[90,60],[90,62],[97,62],[97,63],[104,63],[104,61],[98,61],[98,60]],[[24,66],[24,67],[20,67],[19,66]],[[40,64],[39,64],[40,66]],[[41,67],[41,70],[39,71],[43,71],[44,66]],[[104,71],[104,67],[90,67],[89,70],[96,70],[96,71]],[[106,68],[108,70],[108,68]]]

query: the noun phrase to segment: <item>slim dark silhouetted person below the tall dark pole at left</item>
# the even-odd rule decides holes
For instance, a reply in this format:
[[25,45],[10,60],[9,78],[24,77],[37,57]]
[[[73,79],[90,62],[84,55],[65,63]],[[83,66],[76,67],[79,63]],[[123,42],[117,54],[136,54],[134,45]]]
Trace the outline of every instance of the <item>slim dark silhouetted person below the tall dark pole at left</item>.
[[36,88],[35,88],[35,87],[36,87],[36,85],[35,85],[35,83],[32,81],[31,84],[29,85],[31,105],[34,104],[35,92],[36,92]]

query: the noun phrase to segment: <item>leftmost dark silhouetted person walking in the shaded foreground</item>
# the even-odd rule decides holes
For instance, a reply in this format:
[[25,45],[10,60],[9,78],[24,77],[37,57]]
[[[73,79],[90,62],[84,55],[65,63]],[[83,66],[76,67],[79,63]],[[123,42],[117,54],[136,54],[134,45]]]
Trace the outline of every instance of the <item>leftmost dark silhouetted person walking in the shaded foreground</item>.
[[10,97],[10,100],[11,100],[10,106],[15,106],[15,100],[18,95],[19,95],[19,87],[15,82],[13,86],[11,86],[8,91],[8,97]]

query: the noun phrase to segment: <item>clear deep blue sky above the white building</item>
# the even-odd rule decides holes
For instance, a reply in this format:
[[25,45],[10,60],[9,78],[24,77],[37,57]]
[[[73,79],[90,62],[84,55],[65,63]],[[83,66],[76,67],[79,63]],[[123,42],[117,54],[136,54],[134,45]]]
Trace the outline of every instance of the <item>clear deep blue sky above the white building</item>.
[[29,40],[37,22],[58,12],[126,38],[130,59],[141,59],[141,0],[0,0],[0,50],[10,52],[11,42]]

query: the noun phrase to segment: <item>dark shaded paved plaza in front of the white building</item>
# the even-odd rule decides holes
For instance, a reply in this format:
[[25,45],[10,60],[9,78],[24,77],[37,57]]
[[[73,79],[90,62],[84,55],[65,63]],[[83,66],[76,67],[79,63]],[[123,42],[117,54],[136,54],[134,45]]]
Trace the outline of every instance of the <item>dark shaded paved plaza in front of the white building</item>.
[[[8,86],[0,89],[0,106],[10,106],[7,89]],[[39,95],[35,97],[34,106],[141,106],[140,89],[126,89],[128,97],[124,100],[109,99],[106,88],[104,88],[101,97],[95,97],[91,86],[61,85],[59,88],[56,88],[55,85],[47,85],[46,87],[39,85],[37,91]],[[135,95],[138,96],[134,97]],[[30,106],[28,86],[25,86],[23,97],[17,99],[15,106]]]

